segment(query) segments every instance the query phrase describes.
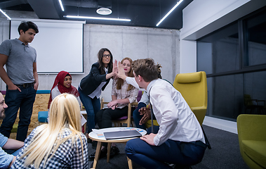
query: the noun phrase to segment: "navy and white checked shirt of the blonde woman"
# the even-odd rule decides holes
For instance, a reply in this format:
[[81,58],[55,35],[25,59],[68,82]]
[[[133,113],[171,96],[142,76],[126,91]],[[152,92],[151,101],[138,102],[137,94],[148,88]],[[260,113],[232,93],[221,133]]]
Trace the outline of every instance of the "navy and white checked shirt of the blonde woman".
[[[25,147],[29,146],[35,132],[36,128],[32,131],[31,134],[29,134],[27,139],[25,139],[25,146],[17,156],[11,168],[34,168],[33,164],[24,166],[27,156],[25,156],[24,158],[20,158],[20,156],[22,156],[22,154],[24,153],[23,150],[25,149]],[[71,134],[71,131],[68,128],[65,128],[62,137],[65,138],[69,134]],[[76,138],[77,141],[74,142],[73,145],[72,139],[69,138],[66,142],[60,144],[53,157],[50,160],[46,161],[45,166],[44,160],[41,161],[39,168],[88,168],[88,144],[86,141],[86,136],[84,134],[81,134],[81,138],[85,140],[85,142],[83,142],[83,156],[81,151],[81,140],[79,139],[79,137]],[[53,150],[51,154],[53,154]],[[81,159],[80,157],[83,159]]]

